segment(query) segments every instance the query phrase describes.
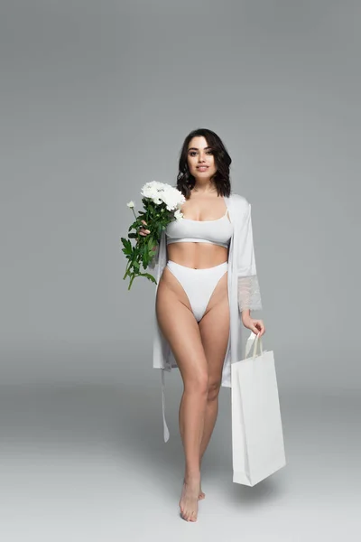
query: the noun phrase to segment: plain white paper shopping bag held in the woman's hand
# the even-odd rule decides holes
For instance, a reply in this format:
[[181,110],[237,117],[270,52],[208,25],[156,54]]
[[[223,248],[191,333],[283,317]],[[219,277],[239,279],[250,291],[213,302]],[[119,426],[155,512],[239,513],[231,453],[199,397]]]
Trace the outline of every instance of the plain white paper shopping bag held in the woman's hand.
[[252,332],[231,371],[233,481],[254,486],[286,464],[273,351]]

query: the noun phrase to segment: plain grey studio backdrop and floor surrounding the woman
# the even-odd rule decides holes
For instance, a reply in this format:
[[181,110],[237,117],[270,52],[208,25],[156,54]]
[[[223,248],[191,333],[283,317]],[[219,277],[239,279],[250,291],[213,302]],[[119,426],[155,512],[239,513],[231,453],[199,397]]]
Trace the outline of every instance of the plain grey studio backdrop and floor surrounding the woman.
[[[356,0],[1,4],[7,542],[225,528],[229,540],[337,540],[346,523],[357,537],[360,23]],[[221,136],[234,192],[253,206],[288,464],[255,488],[232,483],[223,389],[207,497],[187,524],[180,375],[167,378],[163,444],[154,288],[127,291],[119,238],[126,201],[175,182],[199,126]]]

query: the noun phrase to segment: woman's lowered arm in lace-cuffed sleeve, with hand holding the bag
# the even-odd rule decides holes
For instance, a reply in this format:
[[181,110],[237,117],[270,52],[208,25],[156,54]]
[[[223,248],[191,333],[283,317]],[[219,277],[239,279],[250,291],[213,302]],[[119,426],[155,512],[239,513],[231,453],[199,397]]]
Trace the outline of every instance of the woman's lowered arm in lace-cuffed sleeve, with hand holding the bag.
[[255,334],[263,335],[264,322],[252,318],[252,310],[261,310],[261,292],[255,266],[255,247],[252,229],[251,204],[246,202],[245,216],[240,229],[237,262],[238,308],[243,325]]

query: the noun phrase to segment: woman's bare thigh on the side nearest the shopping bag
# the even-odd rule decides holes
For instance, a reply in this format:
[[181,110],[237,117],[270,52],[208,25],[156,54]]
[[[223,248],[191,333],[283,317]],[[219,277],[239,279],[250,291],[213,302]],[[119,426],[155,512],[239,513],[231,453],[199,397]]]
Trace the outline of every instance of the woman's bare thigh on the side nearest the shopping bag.
[[216,285],[208,303],[206,313],[199,321],[199,332],[208,364],[210,387],[221,383],[223,363],[229,338],[229,302],[227,272]]

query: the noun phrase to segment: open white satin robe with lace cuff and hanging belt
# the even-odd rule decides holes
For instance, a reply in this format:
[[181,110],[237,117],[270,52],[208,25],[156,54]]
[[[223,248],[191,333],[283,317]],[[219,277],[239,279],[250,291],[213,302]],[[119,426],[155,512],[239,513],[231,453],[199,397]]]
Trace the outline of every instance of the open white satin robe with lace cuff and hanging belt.
[[[243,196],[231,194],[225,197],[229,219],[234,231],[228,250],[227,290],[229,300],[230,329],[227,352],[222,370],[222,386],[231,387],[231,363],[238,361],[240,351],[241,311],[261,309],[261,296],[255,267],[255,249],[251,220],[251,204]],[[159,281],[167,264],[166,234],[162,231],[161,241],[151,267],[157,267],[156,280]],[[162,375],[162,415],[164,441],[169,439],[165,421],[164,371],[178,368],[171,347],[163,337],[154,308],[153,368],[161,369]]]

